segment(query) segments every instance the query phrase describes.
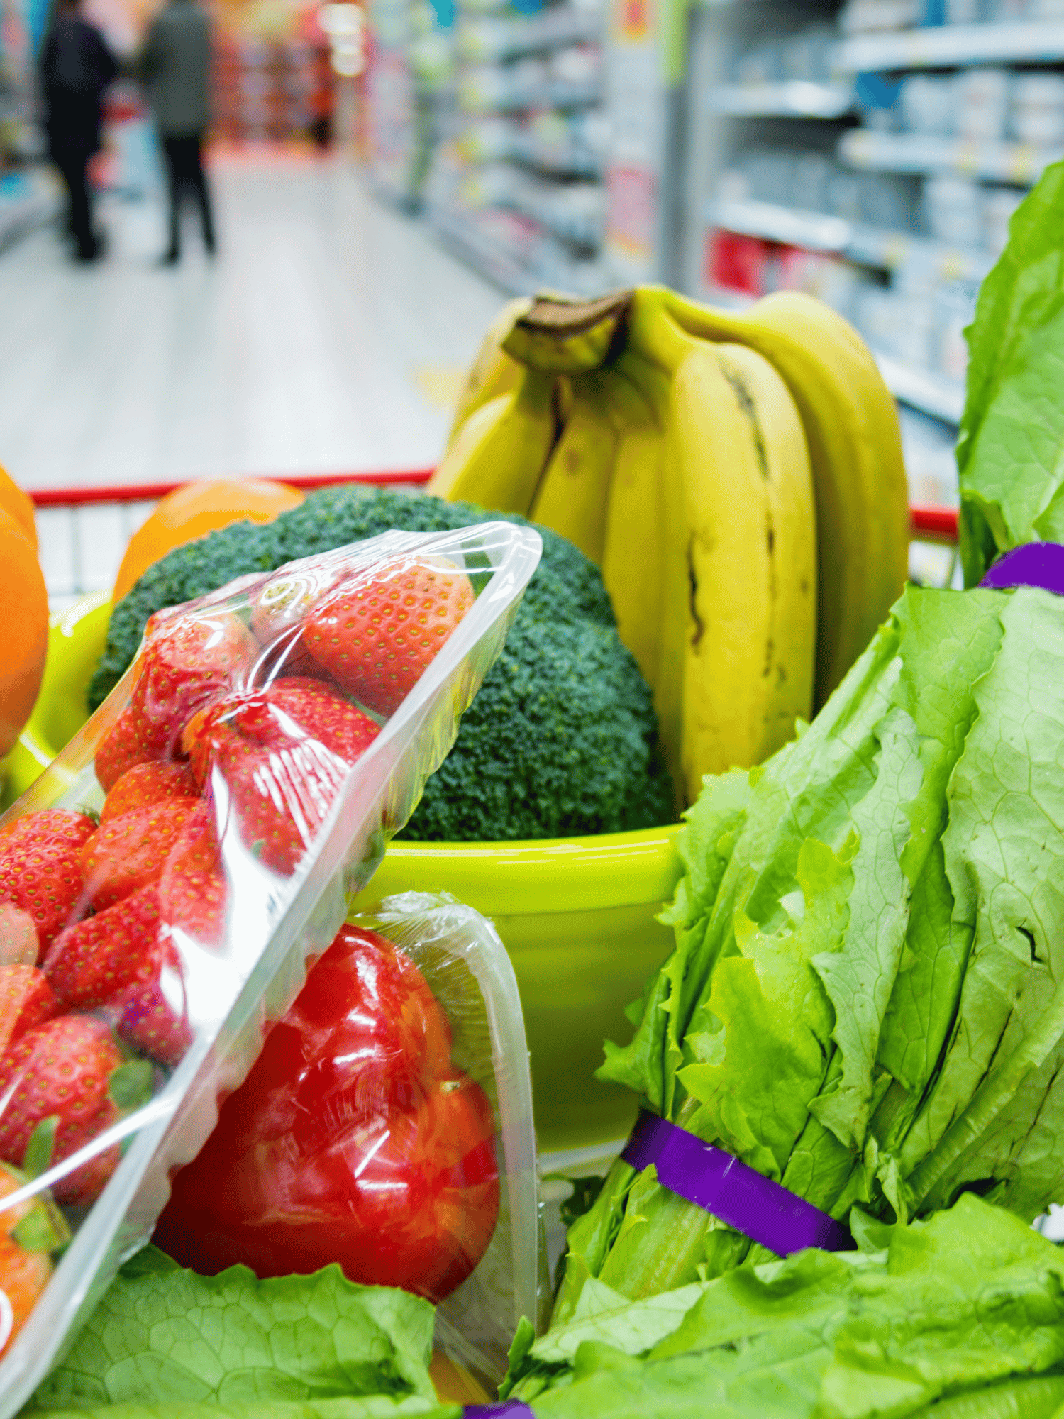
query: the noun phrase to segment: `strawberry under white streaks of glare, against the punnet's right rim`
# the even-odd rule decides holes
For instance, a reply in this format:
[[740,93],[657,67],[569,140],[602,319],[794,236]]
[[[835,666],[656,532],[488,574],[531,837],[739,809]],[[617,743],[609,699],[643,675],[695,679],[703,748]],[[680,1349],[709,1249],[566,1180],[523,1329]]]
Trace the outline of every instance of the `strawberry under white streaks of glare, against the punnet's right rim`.
[[315,680],[275,680],[227,695],[186,729],[199,782],[226,780],[240,836],[262,863],[291,873],[377,725]]

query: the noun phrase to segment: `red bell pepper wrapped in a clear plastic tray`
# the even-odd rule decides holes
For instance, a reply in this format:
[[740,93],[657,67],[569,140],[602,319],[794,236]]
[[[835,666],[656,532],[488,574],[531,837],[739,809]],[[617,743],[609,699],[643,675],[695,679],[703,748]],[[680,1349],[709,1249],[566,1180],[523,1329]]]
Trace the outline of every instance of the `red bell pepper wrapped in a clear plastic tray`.
[[549,1288],[525,1025],[491,922],[420,893],[350,917],[174,1175],[155,1243],[209,1276],[335,1261],[401,1286],[494,1389]]

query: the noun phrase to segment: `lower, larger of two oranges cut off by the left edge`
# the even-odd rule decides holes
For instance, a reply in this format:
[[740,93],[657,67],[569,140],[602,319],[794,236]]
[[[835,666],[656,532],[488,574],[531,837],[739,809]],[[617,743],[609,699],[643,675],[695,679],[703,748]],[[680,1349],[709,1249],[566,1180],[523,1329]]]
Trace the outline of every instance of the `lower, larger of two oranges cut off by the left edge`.
[[21,526],[0,508],[4,644],[0,654],[0,759],[30,718],[48,651],[48,592]]

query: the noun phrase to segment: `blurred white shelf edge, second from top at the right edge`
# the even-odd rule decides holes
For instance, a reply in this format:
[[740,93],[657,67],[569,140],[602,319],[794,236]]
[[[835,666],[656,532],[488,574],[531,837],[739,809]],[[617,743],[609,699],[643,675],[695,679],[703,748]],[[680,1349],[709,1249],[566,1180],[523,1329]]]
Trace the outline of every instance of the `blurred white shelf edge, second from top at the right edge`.
[[851,167],[884,173],[956,173],[992,182],[1030,184],[1061,156],[1060,148],[1030,143],[980,143],[931,133],[877,133],[855,128],[838,140],[838,156]]

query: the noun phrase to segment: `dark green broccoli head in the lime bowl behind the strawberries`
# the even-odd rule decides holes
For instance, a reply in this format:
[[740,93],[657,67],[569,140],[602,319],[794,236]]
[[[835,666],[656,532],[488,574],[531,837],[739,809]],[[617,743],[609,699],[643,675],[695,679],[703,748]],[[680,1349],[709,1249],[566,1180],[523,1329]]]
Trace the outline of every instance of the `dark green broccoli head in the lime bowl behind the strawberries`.
[[[118,684],[163,606],[390,528],[444,532],[491,521],[528,525],[468,502],[350,484],[314,492],[264,526],[237,522],[174,548],[115,607],[89,707]],[[538,532],[543,556],[505,648],[403,837],[569,837],[672,820],[650,688],[620,643],[602,573],[572,542]]]

